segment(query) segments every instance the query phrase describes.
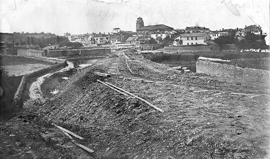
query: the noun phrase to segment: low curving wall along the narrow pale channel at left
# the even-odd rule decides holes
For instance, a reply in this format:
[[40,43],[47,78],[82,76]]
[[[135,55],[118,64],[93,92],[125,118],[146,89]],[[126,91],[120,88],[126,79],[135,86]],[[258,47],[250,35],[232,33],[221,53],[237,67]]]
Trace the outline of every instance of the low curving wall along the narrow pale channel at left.
[[59,69],[59,68],[64,68],[66,67],[68,64],[67,64],[67,61],[63,61],[59,64],[56,64],[56,65],[53,65],[53,66],[50,66],[50,67],[47,67],[47,68],[44,68],[44,69],[41,69],[41,70],[38,70],[38,71],[35,71],[33,73],[30,73],[30,74],[27,74],[27,75],[24,75],[20,81],[20,84],[19,84],[19,87],[17,89],[17,91],[15,92],[15,95],[14,95],[14,98],[13,98],[13,104],[16,105],[16,106],[20,106],[22,107],[23,105],[23,96],[24,96],[24,91],[25,91],[25,87],[26,87],[26,81],[30,78],[36,78],[36,77],[39,77],[45,73],[48,73],[52,70],[56,70],[56,69]]

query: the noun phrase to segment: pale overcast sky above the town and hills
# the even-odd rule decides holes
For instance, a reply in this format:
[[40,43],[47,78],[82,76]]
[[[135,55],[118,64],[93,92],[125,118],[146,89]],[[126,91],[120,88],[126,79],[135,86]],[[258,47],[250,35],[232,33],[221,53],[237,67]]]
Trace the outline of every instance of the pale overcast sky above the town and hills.
[[269,0],[0,0],[0,32],[51,32],[64,35],[136,30],[145,25],[211,30],[261,25],[270,33]]

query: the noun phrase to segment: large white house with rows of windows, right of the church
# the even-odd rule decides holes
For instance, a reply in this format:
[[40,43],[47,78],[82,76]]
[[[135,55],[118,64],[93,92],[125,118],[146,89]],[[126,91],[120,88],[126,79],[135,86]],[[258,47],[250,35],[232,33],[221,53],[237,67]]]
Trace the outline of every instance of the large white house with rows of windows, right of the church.
[[210,37],[206,32],[182,34],[182,45],[206,44],[205,42],[209,40]]

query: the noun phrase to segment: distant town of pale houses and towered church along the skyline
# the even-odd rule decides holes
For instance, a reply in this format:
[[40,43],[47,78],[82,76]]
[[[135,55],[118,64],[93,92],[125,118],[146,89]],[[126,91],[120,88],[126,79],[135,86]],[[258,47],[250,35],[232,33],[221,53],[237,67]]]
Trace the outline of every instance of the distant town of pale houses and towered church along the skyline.
[[244,29],[220,29],[212,31],[207,27],[190,26],[185,29],[174,29],[173,27],[157,24],[144,25],[141,17],[136,21],[136,32],[120,31],[117,33],[87,33],[82,35],[71,35],[65,33],[65,37],[70,42],[79,42],[83,45],[105,45],[105,44],[144,44],[150,39],[154,39],[157,43],[161,43],[165,38],[170,38],[171,44],[180,45],[207,45],[209,41],[215,40],[220,36],[233,36],[238,40],[242,40],[249,34],[266,36],[262,27],[257,25],[245,26]]

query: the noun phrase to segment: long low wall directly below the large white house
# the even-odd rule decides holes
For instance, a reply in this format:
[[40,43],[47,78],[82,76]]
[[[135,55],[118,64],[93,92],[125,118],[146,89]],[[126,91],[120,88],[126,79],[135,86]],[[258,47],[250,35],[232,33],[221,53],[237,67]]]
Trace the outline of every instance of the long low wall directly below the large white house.
[[207,45],[207,46],[171,46],[164,47],[165,52],[211,52],[219,50],[217,45]]

